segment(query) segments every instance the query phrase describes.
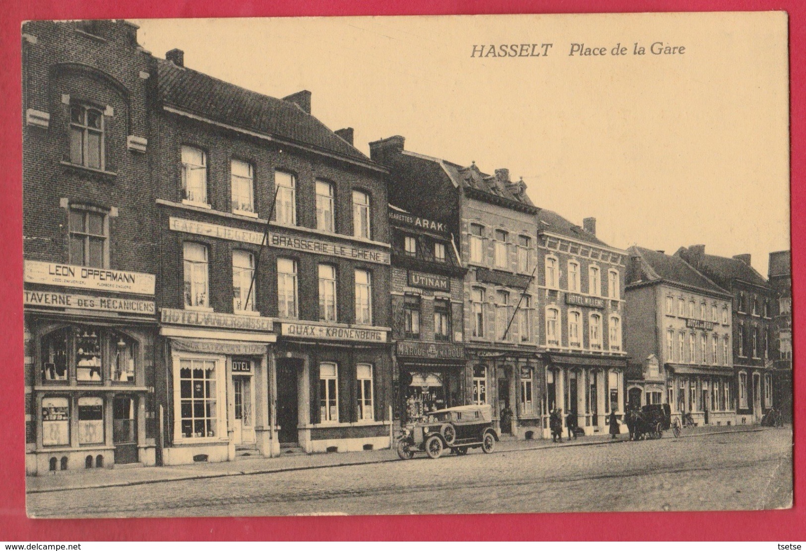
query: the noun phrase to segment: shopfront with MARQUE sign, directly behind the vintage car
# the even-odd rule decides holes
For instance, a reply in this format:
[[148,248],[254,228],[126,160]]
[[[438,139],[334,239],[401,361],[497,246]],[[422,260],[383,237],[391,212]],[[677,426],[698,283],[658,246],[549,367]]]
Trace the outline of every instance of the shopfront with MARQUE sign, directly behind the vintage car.
[[397,341],[401,423],[429,411],[465,404],[464,358],[462,344]]

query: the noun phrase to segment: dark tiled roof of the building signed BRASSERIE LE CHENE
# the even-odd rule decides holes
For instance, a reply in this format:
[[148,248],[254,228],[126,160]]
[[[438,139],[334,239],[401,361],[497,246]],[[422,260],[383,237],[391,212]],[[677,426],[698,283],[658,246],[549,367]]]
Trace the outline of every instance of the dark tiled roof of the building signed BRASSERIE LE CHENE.
[[371,162],[293,102],[258,94],[170,61],[157,60],[157,73],[157,91],[165,105],[362,163]]

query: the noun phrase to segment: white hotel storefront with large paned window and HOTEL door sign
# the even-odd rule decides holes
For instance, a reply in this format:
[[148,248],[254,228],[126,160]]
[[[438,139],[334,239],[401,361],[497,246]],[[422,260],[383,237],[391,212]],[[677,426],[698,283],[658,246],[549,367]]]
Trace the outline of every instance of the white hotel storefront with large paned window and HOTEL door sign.
[[163,308],[164,465],[273,456],[272,319]]

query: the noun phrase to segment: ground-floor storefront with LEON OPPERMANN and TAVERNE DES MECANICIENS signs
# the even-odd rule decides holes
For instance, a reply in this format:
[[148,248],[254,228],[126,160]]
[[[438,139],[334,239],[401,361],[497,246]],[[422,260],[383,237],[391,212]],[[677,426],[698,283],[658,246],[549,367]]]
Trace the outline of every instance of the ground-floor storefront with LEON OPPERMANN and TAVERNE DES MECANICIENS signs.
[[27,474],[155,465],[154,281],[25,261]]

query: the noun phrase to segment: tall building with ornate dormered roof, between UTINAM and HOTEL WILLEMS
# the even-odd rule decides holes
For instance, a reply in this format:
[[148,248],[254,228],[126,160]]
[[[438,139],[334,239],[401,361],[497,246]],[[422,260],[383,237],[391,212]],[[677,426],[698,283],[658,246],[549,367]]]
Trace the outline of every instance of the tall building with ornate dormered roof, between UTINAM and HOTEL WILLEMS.
[[539,436],[542,379],[532,277],[538,209],[526,196],[526,184],[512,182],[507,169],[487,174],[475,164],[457,165],[405,151],[404,145],[402,136],[372,142],[370,155],[391,169],[390,202],[441,220],[468,270],[463,331],[454,329],[467,354],[463,399],[492,405],[502,433]]

